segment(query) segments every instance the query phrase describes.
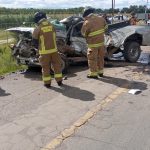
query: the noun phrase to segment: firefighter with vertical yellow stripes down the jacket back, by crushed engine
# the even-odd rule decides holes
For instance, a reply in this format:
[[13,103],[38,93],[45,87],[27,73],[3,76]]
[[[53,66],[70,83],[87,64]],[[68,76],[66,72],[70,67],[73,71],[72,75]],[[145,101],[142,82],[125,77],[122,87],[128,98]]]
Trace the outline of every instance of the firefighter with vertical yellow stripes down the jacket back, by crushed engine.
[[54,69],[54,77],[59,86],[62,85],[62,60],[57,51],[56,33],[50,22],[48,22],[46,13],[36,12],[34,22],[37,24],[33,31],[33,43],[39,51],[39,62],[42,66],[42,78],[44,86],[51,87],[51,65]]

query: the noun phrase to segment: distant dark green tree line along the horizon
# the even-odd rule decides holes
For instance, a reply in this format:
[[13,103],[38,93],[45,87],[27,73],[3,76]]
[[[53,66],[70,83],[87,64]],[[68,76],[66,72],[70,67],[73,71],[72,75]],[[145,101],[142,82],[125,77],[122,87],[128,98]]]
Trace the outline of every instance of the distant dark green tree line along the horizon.
[[[114,9],[115,13],[118,12],[126,12],[130,13],[134,11],[135,13],[144,13],[145,12],[145,7],[144,5],[131,5],[130,7],[124,7],[122,9],[116,8]],[[84,7],[79,7],[79,8],[68,8],[68,9],[35,9],[35,8],[5,8],[5,7],[0,7],[0,14],[34,14],[37,11],[44,11],[47,14],[62,14],[62,13],[67,13],[67,14],[77,14],[77,13],[82,13]],[[98,13],[112,13],[112,8],[109,9],[101,9],[98,8],[96,9]],[[150,13],[150,8],[147,8],[147,12]]]

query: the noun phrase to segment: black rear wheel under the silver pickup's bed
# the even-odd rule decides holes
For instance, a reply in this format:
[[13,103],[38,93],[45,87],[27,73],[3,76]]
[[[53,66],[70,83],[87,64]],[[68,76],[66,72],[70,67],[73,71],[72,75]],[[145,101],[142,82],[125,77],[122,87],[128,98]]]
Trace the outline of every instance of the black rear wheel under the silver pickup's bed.
[[140,44],[137,42],[127,42],[124,49],[124,58],[131,63],[136,62],[141,54]]

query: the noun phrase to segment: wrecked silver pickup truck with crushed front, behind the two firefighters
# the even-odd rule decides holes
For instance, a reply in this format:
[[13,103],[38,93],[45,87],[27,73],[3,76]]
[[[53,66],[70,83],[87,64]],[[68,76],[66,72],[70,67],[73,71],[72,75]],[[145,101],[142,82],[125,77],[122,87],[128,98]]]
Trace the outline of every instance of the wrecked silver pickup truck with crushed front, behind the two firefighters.
[[[68,62],[86,60],[87,43],[81,34],[83,18],[71,16],[61,21],[52,22],[56,28],[58,51],[62,57],[62,68],[66,70]],[[65,27],[60,28],[60,27]],[[17,27],[7,31],[18,35],[17,44],[12,46],[12,55],[19,64],[39,65],[37,49],[32,47],[34,28]],[[140,46],[150,45],[149,26],[130,26],[128,21],[109,25],[105,36],[106,58],[122,53],[126,61],[136,62],[141,54]]]

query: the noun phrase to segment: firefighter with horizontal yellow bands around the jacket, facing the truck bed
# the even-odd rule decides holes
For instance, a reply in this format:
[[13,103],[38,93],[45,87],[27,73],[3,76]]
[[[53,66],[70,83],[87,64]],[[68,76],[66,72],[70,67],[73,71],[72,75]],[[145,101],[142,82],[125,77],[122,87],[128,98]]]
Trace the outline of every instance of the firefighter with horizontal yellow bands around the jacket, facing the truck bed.
[[103,77],[104,68],[104,33],[107,30],[107,23],[103,17],[95,15],[94,11],[94,8],[84,9],[84,23],[81,29],[88,44],[87,58],[90,70],[88,78]]

